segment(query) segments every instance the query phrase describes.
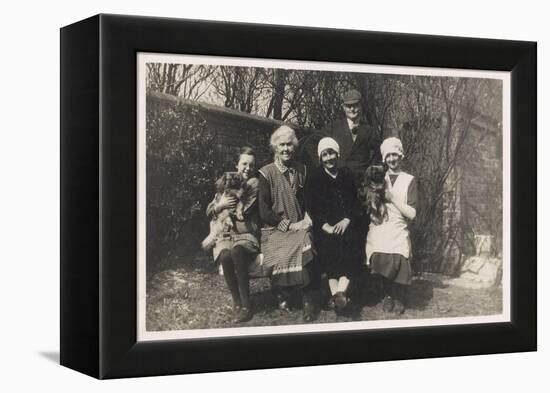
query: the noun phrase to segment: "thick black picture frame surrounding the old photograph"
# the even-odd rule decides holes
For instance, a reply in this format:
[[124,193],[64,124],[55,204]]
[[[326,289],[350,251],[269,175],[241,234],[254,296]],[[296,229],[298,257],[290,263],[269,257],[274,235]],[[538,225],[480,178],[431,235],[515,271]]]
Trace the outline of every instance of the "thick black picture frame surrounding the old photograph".
[[[511,322],[137,342],[138,52],[509,71]],[[61,364],[103,379],[535,351],[536,56],[534,42],[120,15],[62,28]]]

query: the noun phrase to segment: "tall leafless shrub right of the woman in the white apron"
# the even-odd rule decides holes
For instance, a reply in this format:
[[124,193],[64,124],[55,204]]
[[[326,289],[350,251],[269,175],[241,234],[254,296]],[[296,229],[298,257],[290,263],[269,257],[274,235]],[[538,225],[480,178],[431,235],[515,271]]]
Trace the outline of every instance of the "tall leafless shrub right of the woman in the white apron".
[[487,86],[471,78],[411,76],[402,82],[400,117],[407,120],[400,136],[421,187],[412,242],[417,257],[431,270],[441,271],[448,250],[461,248],[469,231],[458,214],[465,180],[459,166],[476,152],[468,141]]

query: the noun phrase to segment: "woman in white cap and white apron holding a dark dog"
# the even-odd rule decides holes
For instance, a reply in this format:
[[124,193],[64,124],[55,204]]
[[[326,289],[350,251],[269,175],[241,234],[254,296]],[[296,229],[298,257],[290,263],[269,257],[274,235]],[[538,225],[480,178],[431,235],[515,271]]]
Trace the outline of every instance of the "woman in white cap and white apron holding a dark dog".
[[[403,146],[398,138],[387,138],[380,147],[387,165],[385,213],[373,217],[367,235],[366,253],[373,273],[384,282],[383,309],[402,314],[412,281],[409,223],[416,217],[417,187],[414,177],[401,170]],[[369,209],[369,208],[367,208]],[[372,211],[369,212],[372,217]]]

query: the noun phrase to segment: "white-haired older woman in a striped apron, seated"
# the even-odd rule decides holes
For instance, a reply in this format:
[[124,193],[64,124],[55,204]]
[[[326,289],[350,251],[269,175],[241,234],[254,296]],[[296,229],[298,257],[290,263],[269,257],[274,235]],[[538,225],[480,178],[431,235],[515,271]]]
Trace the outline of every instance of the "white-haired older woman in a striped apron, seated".
[[291,293],[299,292],[304,321],[309,322],[316,317],[313,292],[320,278],[313,259],[311,219],[305,212],[306,167],[295,160],[298,140],[290,127],[275,130],[270,145],[274,160],[259,171],[263,265],[279,308],[288,310]]

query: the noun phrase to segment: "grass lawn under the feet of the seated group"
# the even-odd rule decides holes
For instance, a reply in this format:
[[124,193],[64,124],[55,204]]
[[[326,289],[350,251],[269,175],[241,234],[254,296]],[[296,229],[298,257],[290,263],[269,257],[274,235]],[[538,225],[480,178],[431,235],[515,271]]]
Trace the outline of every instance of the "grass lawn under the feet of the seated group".
[[[364,275],[354,295],[353,312],[337,316],[322,309],[313,323],[352,320],[422,319],[500,314],[502,288],[469,289],[445,284],[447,277],[423,274],[415,277],[408,293],[404,314],[386,314],[380,304],[379,283]],[[326,284],[326,282],[325,282]],[[232,305],[223,276],[204,269],[179,268],[152,274],[147,279],[147,330],[186,330],[235,326],[274,326],[303,323],[297,305],[291,312],[281,311],[271,294],[269,280],[251,280],[251,321],[232,322]]]

